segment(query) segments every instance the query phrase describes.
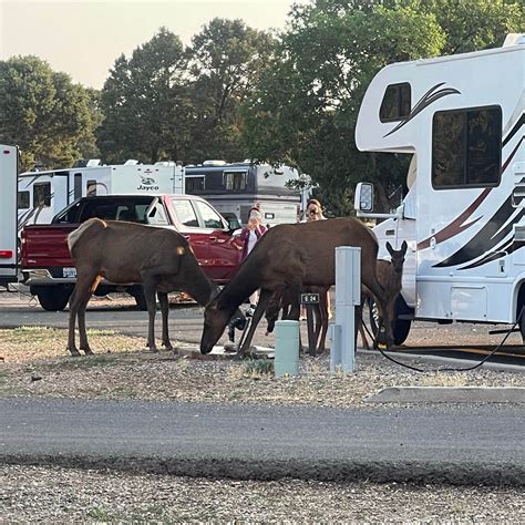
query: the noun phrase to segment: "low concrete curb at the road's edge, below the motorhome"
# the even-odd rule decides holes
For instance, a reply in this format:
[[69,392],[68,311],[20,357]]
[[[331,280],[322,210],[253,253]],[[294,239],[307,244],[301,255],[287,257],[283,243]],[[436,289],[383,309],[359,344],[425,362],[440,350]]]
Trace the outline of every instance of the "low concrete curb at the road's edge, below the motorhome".
[[525,403],[525,388],[390,387],[367,398],[371,403]]

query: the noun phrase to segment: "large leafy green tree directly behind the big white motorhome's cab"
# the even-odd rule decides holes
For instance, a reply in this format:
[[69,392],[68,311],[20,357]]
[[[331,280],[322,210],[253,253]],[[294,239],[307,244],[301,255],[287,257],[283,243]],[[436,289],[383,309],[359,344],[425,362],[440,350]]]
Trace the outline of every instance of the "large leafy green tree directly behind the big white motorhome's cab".
[[521,23],[523,9],[508,0],[296,6],[276,59],[243,106],[247,151],[255,158],[298,165],[319,184],[318,196],[334,215],[351,213],[353,187],[363,179],[375,183],[388,208],[391,194],[399,202],[410,159],[357,151],[357,115],[373,75],[391,62],[500,45]]

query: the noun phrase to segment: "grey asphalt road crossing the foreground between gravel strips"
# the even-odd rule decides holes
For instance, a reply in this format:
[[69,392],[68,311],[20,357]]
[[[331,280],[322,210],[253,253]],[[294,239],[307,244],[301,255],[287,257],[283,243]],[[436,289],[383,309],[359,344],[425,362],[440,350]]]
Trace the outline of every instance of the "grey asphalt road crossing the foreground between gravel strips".
[[240,480],[525,485],[518,406],[0,399],[0,414],[2,463]]

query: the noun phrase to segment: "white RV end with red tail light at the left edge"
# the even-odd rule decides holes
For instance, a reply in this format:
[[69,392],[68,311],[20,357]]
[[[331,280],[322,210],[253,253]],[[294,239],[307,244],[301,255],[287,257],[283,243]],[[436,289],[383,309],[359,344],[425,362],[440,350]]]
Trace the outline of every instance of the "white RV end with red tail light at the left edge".
[[0,286],[17,280],[18,147],[0,144]]

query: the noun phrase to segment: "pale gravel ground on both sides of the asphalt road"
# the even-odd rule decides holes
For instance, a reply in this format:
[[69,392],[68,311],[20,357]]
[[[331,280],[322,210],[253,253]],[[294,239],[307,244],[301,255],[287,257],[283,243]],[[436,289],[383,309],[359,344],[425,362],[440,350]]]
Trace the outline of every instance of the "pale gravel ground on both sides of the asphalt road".
[[[64,330],[0,330],[0,395],[148,399],[366,406],[390,385],[525,387],[523,373],[478,369],[416,373],[358,353],[356,373],[328,373],[328,357],[302,357],[301,374],[274,379],[265,361],[200,361],[144,351],[144,339],[92,331],[97,356],[71,359]],[[264,341],[264,334],[258,334]],[[515,336],[513,336],[515,339]],[[472,326],[442,327],[439,341],[495,343]],[[416,323],[409,343],[436,340]],[[515,341],[516,342],[516,341]],[[102,349],[111,349],[103,352]],[[410,361],[412,364],[413,361]],[[525,523],[522,490],[236,482],[0,465],[0,523],[13,522],[421,522]]]

